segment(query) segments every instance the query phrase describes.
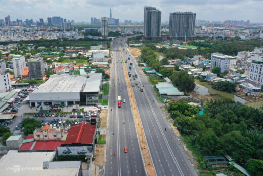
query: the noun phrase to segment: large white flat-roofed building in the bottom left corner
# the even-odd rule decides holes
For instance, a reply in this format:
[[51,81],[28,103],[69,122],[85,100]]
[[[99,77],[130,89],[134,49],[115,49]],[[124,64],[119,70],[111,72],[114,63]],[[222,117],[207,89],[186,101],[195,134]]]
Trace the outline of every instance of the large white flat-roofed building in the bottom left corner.
[[0,160],[1,175],[82,175],[81,161],[54,161],[56,152],[10,150]]

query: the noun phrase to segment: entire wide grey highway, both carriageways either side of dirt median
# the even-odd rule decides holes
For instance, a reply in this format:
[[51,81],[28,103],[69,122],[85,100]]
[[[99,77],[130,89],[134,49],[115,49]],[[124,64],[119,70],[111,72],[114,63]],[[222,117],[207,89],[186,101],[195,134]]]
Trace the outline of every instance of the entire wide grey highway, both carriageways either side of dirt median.
[[[122,51],[124,61],[127,60],[126,69],[129,71],[131,61],[133,62],[131,74],[138,75],[136,80],[130,81],[131,85],[136,85],[136,83],[139,86],[144,85],[143,92],[138,86],[133,87],[133,92],[156,175],[197,175],[158,106],[152,86],[141,74],[141,68],[137,66],[133,56],[127,50],[126,40],[127,37],[122,38],[121,41],[119,39],[113,41],[114,64],[111,65],[105,175],[145,175],[124,69],[121,64],[120,52]],[[120,42],[121,51],[118,42]],[[131,55],[131,60],[128,60],[129,55]],[[121,108],[117,108],[118,95],[122,100],[126,100],[126,103],[122,103]],[[124,153],[124,147],[128,148],[128,153]],[[113,156],[114,152],[116,156]]]

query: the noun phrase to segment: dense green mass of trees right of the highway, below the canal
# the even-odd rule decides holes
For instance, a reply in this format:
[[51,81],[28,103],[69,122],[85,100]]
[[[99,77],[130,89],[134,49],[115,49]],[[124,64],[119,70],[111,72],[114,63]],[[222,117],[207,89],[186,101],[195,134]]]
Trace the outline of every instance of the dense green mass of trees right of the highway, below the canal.
[[203,108],[199,115],[200,108],[184,100],[169,103],[173,125],[198,155],[202,169],[212,170],[202,156],[227,154],[251,174],[262,172],[262,112],[231,99],[211,100]]

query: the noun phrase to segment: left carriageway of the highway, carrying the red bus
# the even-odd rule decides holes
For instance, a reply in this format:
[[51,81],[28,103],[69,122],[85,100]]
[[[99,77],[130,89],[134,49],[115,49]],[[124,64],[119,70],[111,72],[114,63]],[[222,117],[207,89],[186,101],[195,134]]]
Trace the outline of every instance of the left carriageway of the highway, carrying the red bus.
[[[117,39],[113,40],[112,58],[104,175],[146,175]],[[126,100],[121,108],[117,96]]]

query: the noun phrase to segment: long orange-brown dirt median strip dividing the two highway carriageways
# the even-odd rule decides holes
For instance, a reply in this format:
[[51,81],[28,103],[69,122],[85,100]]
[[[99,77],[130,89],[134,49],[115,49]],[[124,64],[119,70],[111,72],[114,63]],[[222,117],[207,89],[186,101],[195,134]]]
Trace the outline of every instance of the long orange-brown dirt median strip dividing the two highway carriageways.
[[129,98],[130,98],[130,103],[131,103],[131,109],[133,109],[133,115],[134,115],[134,120],[135,120],[135,126],[136,126],[136,131],[137,131],[137,135],[138,135],[138,139],[140,142],[140,147],[142,150],[142,154],[143,154],[143,159],[144,159],[144,163],[146,166],[146,171],[147,171],[147,175],[155,175],[155,171],[153,168],[153,163],[150,157],[150,152],[146,143],[146,139],[145,139],[145,135],[144,135],[144,131],[143,131],[143,127],[141,124],[141,120],[139,117],[139,112],[137,109],[137,105],[135,102],[135,97],[134,97],[134,93],[133,93],[133,89],[131,88],[131,84],[129,82],[129,76],[128,76],[128,72],[126,69],[126,65],[125,65],[125,61],[123,60],[123,53],[120,47],[120,43],[119,43],[119,49],[120,49],[120,53],[121,53],[121,58],[122,58],[122,64],[124,67],[124,73],[125,73],[125,78],[126,78],[126,83],[127,83],[127,87],[128,87],[128,92],[129,92]]

